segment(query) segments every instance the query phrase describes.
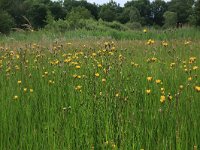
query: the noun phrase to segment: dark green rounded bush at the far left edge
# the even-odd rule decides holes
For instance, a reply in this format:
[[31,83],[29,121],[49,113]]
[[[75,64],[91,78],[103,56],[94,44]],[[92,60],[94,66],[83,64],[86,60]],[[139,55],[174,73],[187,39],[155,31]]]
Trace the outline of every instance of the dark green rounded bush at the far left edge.
[[8,34],[14,27],[14,19],[6,11],[0,10],[0,32]]

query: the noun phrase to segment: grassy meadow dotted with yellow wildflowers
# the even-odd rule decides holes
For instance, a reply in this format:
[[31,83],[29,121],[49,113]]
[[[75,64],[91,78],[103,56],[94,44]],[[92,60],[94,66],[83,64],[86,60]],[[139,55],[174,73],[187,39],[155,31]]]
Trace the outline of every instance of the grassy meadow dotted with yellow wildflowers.
[[199,149],[199,35],[1,36],[0,149]]

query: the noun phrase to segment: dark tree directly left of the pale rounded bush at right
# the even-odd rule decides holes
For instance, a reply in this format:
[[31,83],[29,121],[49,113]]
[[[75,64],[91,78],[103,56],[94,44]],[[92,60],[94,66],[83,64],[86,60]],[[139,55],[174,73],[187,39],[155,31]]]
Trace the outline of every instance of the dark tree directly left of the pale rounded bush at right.
[[154,24],[164,24],[163,14],[167,11],[167,4],[163,0],[155,0],[151,3],[151,18]]

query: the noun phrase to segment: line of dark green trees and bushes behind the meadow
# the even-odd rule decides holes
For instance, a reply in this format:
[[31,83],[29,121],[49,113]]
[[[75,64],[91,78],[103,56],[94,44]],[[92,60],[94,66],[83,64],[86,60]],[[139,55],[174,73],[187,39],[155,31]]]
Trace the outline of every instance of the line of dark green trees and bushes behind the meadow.
[[[200,25],[200,0],[132,0],[121,7],[114,1],[103,5],[81,0],[0,0],[0,32],[40,29],[46,26],[81,28],[93,20],[107,25],[174,27]],[[91,23],[91,21],[87,22]],[[110,23],[110,24],[109,24]],[[67,26],[67,27],[66,27]]]

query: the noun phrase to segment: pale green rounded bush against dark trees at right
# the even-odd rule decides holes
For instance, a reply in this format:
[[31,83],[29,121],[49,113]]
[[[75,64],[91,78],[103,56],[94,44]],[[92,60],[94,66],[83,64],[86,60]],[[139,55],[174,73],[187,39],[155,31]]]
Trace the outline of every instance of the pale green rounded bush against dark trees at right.
[[177,23],[177,14],[175,12],[166,11],[163,15],[165,18],[165,28],[175,27]]

